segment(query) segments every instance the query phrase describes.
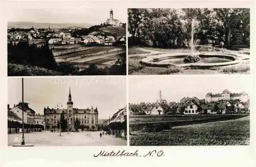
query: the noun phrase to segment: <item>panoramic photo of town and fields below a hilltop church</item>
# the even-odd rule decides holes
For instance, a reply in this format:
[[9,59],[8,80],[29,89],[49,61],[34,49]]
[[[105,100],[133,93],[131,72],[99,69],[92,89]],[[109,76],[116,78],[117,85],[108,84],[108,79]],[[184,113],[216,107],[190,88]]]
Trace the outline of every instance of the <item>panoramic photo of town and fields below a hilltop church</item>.
[[126,10],[8,11],[8,76],[126,75]]

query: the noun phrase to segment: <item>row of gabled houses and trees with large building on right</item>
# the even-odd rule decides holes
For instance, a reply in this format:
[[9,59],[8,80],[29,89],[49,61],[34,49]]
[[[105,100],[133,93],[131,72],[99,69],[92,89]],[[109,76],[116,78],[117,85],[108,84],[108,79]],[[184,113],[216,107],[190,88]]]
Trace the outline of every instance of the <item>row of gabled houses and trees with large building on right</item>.
[[161,90],[155,103],[129,104],[130,115],[161,115],[161,114],[227,114],[249,112],[249,97],[245,92],[231,93],[224,90],[218,95],[207,93],[205,99],[196,97],[182,98],[180,102],[162,99]]

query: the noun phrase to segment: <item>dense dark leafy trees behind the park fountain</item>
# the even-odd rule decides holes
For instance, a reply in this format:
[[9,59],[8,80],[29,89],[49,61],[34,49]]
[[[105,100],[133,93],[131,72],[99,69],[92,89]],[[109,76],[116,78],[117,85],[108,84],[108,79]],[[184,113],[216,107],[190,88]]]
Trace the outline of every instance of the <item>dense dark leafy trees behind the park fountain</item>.
[[200,44],[249,45],[250,9],[128,9],[129,45],[186,46],[191,22]]

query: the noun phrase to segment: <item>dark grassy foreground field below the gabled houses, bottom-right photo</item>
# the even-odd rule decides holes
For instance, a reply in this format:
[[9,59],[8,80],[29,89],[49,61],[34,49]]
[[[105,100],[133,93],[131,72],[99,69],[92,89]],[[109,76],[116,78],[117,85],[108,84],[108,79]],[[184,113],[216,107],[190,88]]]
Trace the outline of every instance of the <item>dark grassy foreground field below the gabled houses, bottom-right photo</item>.
[[131,146],[249,145],[249,116],[236,120],[173,127],[162,132],[130,131]]

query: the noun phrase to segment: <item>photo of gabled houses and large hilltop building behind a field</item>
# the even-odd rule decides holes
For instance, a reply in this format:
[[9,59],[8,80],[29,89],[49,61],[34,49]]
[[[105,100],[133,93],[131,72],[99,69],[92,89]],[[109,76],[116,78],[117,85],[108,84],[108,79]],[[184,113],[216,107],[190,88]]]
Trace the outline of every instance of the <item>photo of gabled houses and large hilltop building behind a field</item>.
[[250,145],[250,76],[130,76],[130,146]]

